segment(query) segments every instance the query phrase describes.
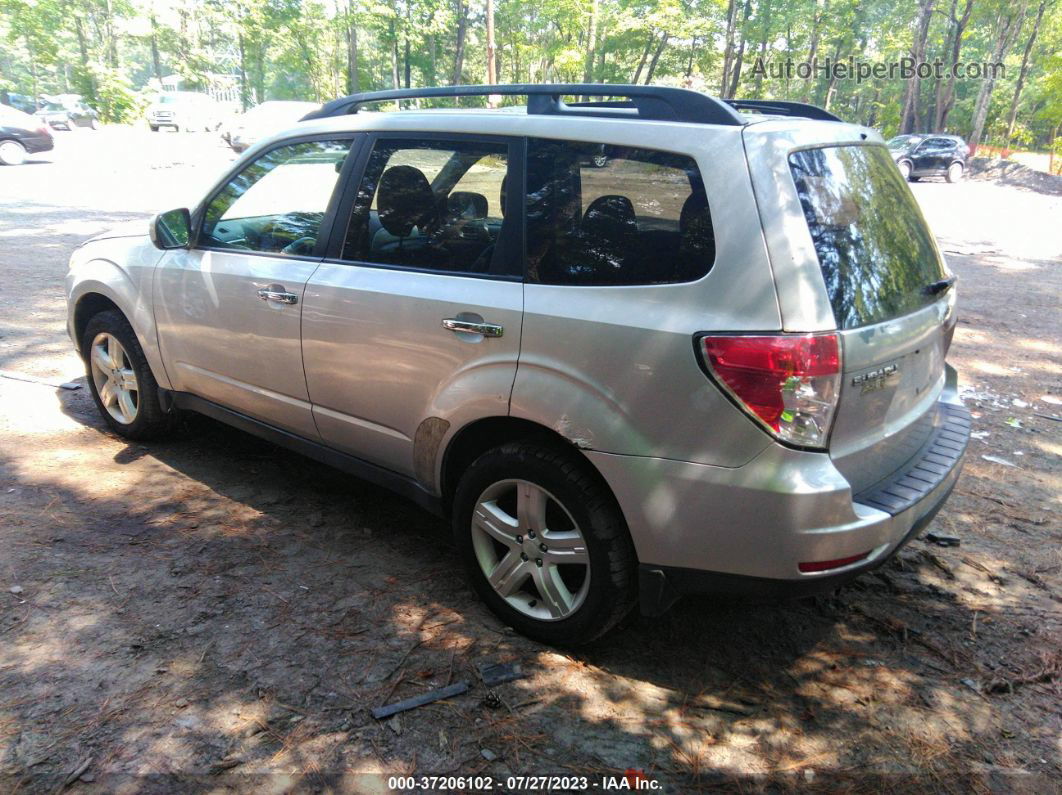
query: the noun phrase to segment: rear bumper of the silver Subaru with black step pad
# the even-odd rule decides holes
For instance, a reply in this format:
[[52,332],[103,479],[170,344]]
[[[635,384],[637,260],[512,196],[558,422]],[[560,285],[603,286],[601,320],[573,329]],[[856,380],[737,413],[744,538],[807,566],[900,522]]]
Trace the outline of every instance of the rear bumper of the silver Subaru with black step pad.
[[[857,496],[827,454],[780,445],[734,469],[588,453],[631,529],[643,610],[684,593],[806,595],[888,560],[932,520],[962,469],[970,415],[948,376],[925,446]],[[857,555],[826,571],[799,567]]]

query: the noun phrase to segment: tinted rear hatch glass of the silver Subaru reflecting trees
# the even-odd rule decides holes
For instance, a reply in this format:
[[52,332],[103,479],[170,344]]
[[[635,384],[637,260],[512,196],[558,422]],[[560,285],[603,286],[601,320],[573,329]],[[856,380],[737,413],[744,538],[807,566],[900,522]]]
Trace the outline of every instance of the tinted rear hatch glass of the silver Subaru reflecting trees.
[[789,156],[839,329],[914,312],[944,278],[922,211],[880,145],[809,149]]

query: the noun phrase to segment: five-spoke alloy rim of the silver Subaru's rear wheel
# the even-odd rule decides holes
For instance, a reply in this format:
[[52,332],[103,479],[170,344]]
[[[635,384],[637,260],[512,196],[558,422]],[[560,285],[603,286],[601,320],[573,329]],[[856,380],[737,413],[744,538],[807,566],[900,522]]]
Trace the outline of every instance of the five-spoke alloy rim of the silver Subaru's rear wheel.
[[568,509],[525,480],[491,485],[476,501],[473,549],[494,591],[520,613],[560,621],[589,591],[589,550]]

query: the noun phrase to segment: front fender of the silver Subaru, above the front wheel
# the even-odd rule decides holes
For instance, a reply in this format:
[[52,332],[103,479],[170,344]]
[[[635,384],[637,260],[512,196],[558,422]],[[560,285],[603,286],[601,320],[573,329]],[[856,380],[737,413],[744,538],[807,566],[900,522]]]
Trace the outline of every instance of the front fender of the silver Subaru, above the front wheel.
[[[87,243],[71,258],[67,274],[67,311],[70,328],[78,303],[99,293],[117,305],[136,332],[144,358],[158,385],[170,388],[155,328],[152,284],[164,252],[147,237],[110,238]],[[80,346],[80,341],[75,341]]]

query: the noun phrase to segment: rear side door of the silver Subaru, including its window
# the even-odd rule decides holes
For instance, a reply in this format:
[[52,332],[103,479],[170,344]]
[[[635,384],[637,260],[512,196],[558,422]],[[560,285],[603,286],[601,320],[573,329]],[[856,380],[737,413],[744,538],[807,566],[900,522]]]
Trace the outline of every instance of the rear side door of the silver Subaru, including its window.
[[418,431],[509,412],[523,313],[519,213],[504,206],[515,145],[378,136],[370,152],[345,234],[306,288],[306,379],[326,444],[430,477],[430,462],[414,465]]

